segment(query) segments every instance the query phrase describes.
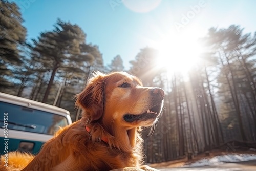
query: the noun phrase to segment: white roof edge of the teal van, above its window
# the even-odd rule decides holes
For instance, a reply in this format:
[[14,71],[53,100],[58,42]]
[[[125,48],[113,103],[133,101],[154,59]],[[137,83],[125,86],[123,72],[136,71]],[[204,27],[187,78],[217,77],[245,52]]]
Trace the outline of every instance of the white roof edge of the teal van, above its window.
[[63,115],[63,114],[70,115],[70,112],[65,109],[58,108],[50,104],[45,104],[38,101],[17,97],[17,96],[13,96],[13,95],[1,93],[1,92],[0,92],[0,101],[11,103],[11,104],[17,104],[17,105],[25,106],[27,108],[37,109],[41,111],[54,112],[60,115]]

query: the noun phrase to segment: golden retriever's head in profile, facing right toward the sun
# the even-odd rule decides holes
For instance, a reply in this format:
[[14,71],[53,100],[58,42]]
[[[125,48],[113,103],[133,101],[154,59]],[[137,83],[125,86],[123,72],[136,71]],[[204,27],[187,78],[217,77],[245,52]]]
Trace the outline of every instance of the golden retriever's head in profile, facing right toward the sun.
[[76,104],[83,108],[90,122],[106,126],[151,126],[161,113],[164,91],[143,87],[141,81],[125,72],[108,75],[96,73],[77,95]]

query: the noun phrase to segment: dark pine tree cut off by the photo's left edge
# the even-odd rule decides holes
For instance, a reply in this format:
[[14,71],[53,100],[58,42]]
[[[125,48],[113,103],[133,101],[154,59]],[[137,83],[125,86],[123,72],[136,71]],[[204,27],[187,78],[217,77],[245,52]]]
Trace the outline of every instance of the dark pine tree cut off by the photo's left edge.
[[21,65],[19,45],[25,42],[23,18],[14,2],[0,1],[0,89],[12,86],[11,68]]

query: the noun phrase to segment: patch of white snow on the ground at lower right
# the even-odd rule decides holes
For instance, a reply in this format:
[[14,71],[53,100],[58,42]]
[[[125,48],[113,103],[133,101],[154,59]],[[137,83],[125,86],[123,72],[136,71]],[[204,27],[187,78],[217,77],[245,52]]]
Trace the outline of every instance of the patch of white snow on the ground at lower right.
[[221,155],[215,156],[212,158],[205,158],[194,163],[185,164],[183,167],[203,167],[203,166],[210,166],[210,165],[220,165],[223,163],[234,163],[240,161],[250,161],[256,160],[255,154],[228,154],[228,155]]

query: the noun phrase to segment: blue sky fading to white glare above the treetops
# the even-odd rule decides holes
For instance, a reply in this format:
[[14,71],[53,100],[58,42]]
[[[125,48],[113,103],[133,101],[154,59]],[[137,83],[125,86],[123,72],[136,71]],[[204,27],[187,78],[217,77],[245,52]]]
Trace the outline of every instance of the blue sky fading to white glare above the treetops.
[[[104,65],[120,55],[125,69],[144,47],[159,48],[186,42],[181,50],[203,37],[210,27],[241,25],[244,33],[256,31],[253,0],[17,0],[28,39],[51,31],[57,18],[78,24],[86,41],[99,46]],[[191,46],[193,47],[193,46]],[[176,47],[166,46],[170,51]]]

